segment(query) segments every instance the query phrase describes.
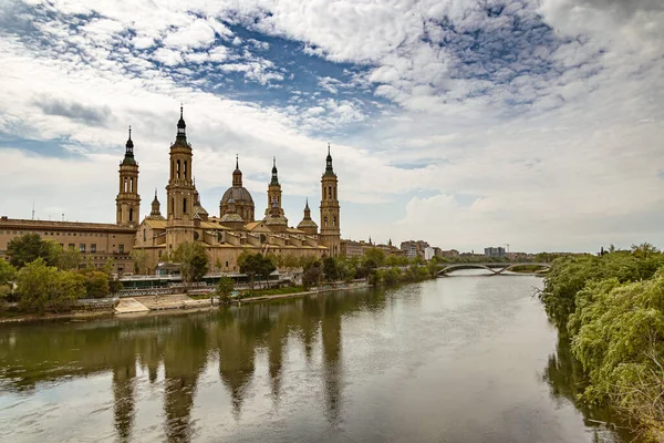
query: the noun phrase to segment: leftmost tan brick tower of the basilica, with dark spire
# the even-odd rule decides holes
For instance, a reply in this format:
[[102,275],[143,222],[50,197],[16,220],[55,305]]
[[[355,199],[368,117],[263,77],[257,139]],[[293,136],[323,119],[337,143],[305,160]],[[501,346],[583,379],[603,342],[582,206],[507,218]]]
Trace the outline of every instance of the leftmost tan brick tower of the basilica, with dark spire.
[[120,226],[138,226],[141,222],[141,196],[138,195],[138,163],[134,159],[132,127],[125,145],[125,157],[120,164],[120,192],[115,198],[115,223]]

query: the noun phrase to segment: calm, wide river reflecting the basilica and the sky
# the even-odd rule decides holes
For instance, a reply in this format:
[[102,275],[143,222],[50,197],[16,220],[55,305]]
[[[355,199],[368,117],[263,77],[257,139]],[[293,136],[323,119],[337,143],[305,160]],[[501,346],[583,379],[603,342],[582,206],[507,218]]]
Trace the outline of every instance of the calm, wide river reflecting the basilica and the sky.
[[450,277],[0,328],[0,441],[627,442],[574,404],[535,287]]

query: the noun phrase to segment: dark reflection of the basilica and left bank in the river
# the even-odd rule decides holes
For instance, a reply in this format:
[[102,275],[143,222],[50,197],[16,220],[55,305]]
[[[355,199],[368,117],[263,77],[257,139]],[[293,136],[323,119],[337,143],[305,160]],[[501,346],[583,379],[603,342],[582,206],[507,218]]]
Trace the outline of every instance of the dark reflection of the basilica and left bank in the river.
[[[299,342],[309,363],[314,359],[313,350],[321,350],[323,411],[331,423],[338,423],[343,396],[342,316],[371,302],[372,293],[376,292],[305,297],[183,317],[145,317],[96,328],[71,324],[33,330],[14,338],[11,358],[3,360],[8,364],[0,377],[10,378],[2,385],[30,391],[44,379],[111,373],[113,426],[118,441],[136,437],[136,396],[145,392],[138,384],[163,385],[158,398],[163,401],[164,434],[157,440],[181,442],[189,441],[195,432],[191,411],[210,359],[218,358],[219,379],[230,398],[229,411],[240,420],[243,402],[255,393],[258,350],[267,351],[267,368],[261,364],[260,369],[267,372],[272,403],[279,408],[288,373],[286,346]],[[290,332],[295,333],[289,339]],[[0,331],[0,357],[9,356],[3,348],[8,333]],[[62,364],[69,361],[76,364]],[[25,373],[25,368],[40,368],[41,372],[32,370],[32,379],[15,377]]]

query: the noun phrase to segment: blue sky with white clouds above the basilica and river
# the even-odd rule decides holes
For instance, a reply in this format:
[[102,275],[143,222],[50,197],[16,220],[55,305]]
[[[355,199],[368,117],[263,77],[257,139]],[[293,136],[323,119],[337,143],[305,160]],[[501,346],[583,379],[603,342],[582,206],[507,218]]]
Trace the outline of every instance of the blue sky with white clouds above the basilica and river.
[[113,223],[129,125],[149,214],[183,103],[211,215],[276,156],[318,222],[330,143],[343,238],[664,247],[661,0],[0,0],[0,62],[11,218]]

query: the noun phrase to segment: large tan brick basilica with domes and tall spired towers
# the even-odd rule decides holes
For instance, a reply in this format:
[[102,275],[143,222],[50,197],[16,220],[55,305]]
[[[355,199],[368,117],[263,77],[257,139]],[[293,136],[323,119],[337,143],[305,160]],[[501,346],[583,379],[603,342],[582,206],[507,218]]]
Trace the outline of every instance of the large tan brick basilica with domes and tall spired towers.
[[169,174],[166,185],[166,214],[155,192],[152,210],[139,220],[138,164],[129,132],[125,156],[120,164],[120,193],[116,198],[116,223],[136,229],[133,249],[147,253],[149,267],[164,261],[185,241],[203,243],[210,257],[210,269],[238,271],[242,251],[295,257],[338,256],[341,251],[338,178],[328,147],[325,171],[321,178],[320,231],[311,218],[309,202],[302,220],[289,226],[281,207],[281,184],[276,159],[267,188],[267,207],[257,214],[253,198],[242,186],[242,172],[236,158],[231,186],[219,202],[218,215],[210,215],[200,202],[194,179],[194,151],[187,142],[186,123],[180,107],[177,135],[170,145]]

